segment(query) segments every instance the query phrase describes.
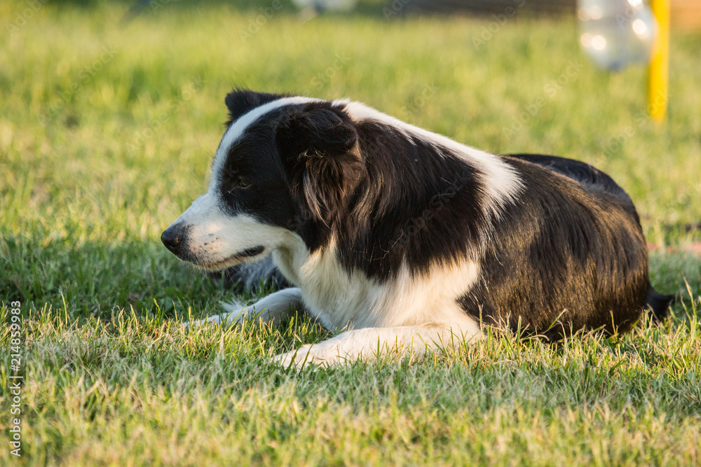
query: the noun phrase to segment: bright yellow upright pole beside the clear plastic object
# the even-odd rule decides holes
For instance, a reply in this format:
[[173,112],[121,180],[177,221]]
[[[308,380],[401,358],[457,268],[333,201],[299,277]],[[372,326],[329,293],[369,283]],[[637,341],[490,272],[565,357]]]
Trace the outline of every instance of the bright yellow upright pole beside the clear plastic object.
[[658,22],[648,78],[648,111],[657,123],[665,121],[669,88],[669,0],[651,0]]

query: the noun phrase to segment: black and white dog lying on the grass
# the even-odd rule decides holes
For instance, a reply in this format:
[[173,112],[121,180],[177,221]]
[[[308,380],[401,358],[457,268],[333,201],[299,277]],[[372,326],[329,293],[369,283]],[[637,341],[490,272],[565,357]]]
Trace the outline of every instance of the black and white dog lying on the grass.
[[557,340],[667,312],[632,201],[590,165],[485,153],[348,100],[237,90],[226,106],[209,190],[161,239],[205,270],[291,284],[205,322],[299,309],[343,330],[284,365],[421,353],[481,323]]

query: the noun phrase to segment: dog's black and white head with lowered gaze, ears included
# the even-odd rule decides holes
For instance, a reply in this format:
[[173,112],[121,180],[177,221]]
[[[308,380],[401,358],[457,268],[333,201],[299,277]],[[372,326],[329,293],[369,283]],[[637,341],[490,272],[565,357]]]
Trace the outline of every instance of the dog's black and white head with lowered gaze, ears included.
[[207,270],[313,243],[336,222],[364,167],[343,105],[239,90],[226,106],[207,193],[161,235],[178,258]]

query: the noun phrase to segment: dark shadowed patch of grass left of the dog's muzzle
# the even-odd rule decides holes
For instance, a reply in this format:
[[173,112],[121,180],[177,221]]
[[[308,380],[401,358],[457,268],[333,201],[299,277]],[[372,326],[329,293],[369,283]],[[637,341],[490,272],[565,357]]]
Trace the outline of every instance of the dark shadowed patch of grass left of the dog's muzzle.
[[0,302],[20,300],[74,318],[136,314],[192,316],[219,311],[235,292],[179,262],[160,242],[75,241],[50,235],[0,233]]

